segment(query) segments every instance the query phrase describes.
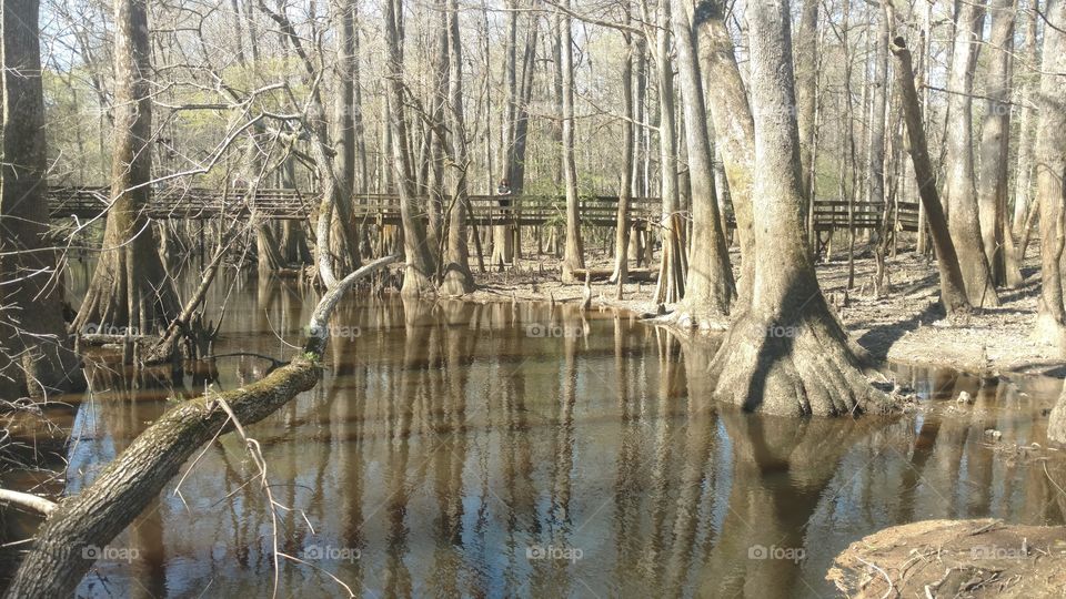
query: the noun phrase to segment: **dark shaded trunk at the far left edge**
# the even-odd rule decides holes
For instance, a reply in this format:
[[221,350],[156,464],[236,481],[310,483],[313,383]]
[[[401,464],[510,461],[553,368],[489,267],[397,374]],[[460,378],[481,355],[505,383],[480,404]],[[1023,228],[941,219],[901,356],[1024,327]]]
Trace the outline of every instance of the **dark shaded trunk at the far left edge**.
[[69,390],[83,380],[63,323],[62,274],[48,233],[44,93],[38,0],[3,0],[0,164],[0,396]]

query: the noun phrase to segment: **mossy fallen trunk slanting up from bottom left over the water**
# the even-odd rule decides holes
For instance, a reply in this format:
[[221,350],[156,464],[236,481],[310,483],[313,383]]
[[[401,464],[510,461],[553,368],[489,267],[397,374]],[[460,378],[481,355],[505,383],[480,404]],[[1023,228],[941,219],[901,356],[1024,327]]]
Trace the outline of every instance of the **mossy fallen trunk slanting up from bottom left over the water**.
[[305,339],[303,353],[291,363],[250,385],[197,397],[167,410],[89,488],[60,501],[38,530],[4,597],[70,597],[94,562],[86,556],[99,554],[83,550],[105,547],[159,496],[199,447],[220,429],[232,429],[233,420],[222,402],[248,425],[314,387],[333,308],[356,281],[400,258],[371,262],[331,287],[311,315],[308,331],[316,334]]

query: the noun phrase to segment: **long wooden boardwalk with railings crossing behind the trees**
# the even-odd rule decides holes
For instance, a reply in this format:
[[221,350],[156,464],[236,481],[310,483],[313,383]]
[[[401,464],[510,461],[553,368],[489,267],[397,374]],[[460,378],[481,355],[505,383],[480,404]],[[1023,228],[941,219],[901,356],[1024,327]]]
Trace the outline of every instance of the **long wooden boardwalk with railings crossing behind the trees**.
[[[108,205],[108,187],[59,187],[48,190],[50,214],[53,219],[94,219],[103,214]],[[479,225],[515,224],[544,225],[566,222],[566,200],[552,195],[471,195],[471,222]],[[614,226],[617,222],[619,197],[611,195],[582,196],[581,222],[591,226]],[[314,194],[296,190],[260,189],[251,199],[241,191],[229,193],[199,187],[165,187],[153,190],[148,205],[148,216],[155,220],[212,220],[249,217],[253,213],[265,220],[303,221],[310,219],[319,199]],[[848,214],[848,203],[816,201],[814,204],[815,231],[832,233],[847,230],[878,229],[884,206],[871,202],[856,202]],[[634,197],[630,201],[631,222],[646,224],[661,216],[657,197]],[[374,224],[400,224],[400,197],[395,194],[358,194],[353,197],[356,220]],[[730,226],[735,226],[728,214]],[[757,219],[757,216],[756,216]],[[917,231],[918,205],[898,202],[893,211],[895,229]]]

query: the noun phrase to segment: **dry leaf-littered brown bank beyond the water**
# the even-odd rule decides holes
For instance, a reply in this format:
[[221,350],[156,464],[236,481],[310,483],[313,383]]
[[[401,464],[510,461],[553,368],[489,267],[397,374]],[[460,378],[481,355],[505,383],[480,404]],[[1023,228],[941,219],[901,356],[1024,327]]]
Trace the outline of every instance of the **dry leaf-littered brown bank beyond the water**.
[[[1034,245],[1035,246],[1035,245]],[[1030,254],[1035,254],[1030,252]],[[733,263],[740,256],[733,252]],[[1035,256],[1023,270],[1024,284],[1000,290],[1002,305],[977,311],[962,322],[949,322],[941,307],[936,264],[913,252],[901,251],[887,260],[887,291],[874,294],[875,261],[868,252],[855,260],[855,284],[847,287],[847,261],[843,255],[817,264],[823,292],[836,306],[844,326],[874,357],[896,363],[948,366],[975,374],[997,373],[1056,374],[1066,366],[1062,352],[1030,339],[1039,295],[1039,273]],[[627,283],[623,300],[616,300],[614,284],[606,282],[610,257],[592,256],[593,305],[621,307],[648,317],[657,313],[652,302],[657,272],[653,264],[636,268],[646,281]],[[581,302],[583,284],[560,282],[560,261],[554,256],[527,256],[506,272],[477,273],[479,290],[466,296],[473,302],[551,301]],[[600,275],[599,277],[596,275]],[[672,305],[664,306],[666,312]]]

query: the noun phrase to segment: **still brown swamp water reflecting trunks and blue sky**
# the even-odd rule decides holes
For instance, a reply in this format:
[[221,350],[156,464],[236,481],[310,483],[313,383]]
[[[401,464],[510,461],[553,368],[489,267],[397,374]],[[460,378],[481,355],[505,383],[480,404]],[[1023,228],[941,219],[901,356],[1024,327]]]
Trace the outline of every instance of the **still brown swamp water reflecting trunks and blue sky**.
[[[291,355],[314,295],[243,285],[213,292],[215,352]],[[353,297],[332,333],[321,384],[249,427],[269,485],[223,437],[98,551],[79,593],[270,596],[276,544],[302,560],[279,558],[281,597],[345,596],[332,577],[366,597],[827,597],[832,558],[886,526],[1063,524],[1049,477],[1066,486],[1066,470],[1003,450],[1045,444],[1056,379],[895,368],[916,413],[797,422],[715,406],[710,348],[611,311]],[[268,367],[220,358],[211,384]],[[102,364],[90,379],[59,446],[69,493],[207,384]],[[952,400],[963,389],[973,406]],[[32,534],[6,518],[8,541]]]

